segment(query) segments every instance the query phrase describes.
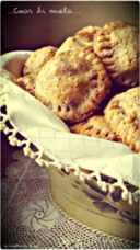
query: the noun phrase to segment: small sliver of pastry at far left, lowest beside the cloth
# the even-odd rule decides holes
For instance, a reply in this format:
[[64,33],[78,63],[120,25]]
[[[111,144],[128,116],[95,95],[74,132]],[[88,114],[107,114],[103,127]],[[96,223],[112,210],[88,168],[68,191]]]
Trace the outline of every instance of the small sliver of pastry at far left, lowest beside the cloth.
[[28,93],[34,94],[35,80],[31,75],[14,79],[14,83],[26,90]]

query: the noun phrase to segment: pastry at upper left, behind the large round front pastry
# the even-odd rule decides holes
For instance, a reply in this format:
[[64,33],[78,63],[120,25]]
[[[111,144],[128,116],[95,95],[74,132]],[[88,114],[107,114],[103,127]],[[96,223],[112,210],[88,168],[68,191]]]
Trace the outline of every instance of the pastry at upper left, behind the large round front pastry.
[[33,75],[35,77],[40,68],[55,56],[56,50],[56,47],[47,46],[33,52],[25,61],[23,73]]

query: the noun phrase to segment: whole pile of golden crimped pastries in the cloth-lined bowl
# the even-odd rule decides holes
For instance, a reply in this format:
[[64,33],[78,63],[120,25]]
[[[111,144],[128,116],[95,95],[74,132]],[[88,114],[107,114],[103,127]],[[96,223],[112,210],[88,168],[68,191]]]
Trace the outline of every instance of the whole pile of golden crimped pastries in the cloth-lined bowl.
[[32,53],[16,84],[72,133],[139,146],[138,30],[117,21],[88,26],[59,48]]

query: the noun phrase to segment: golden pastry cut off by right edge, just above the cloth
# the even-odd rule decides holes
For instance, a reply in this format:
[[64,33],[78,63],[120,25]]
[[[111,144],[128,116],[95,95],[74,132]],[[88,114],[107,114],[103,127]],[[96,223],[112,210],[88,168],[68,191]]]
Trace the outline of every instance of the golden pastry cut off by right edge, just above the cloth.
[[140,87],[115,95],[106,106],[105,120],[110,129],[132,150],[140,151],[139,110]]

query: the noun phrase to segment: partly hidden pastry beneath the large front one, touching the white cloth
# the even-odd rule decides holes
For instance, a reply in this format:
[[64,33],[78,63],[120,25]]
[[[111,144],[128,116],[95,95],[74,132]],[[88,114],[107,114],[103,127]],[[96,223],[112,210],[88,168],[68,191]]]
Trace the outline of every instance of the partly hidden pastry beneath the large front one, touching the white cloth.
[[85,136],[93,136],[108,140],[117,140],[117,137],[108,127],[103,115],[94,115],[85,122],[71,126],[70,130],[72,133]]

